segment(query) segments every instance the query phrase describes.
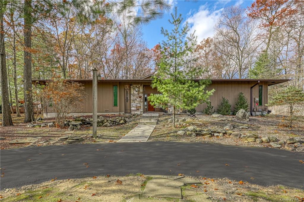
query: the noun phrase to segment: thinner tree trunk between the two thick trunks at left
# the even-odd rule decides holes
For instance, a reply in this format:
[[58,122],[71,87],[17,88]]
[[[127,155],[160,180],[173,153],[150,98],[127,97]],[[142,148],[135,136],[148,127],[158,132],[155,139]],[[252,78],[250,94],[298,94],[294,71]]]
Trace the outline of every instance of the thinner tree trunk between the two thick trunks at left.
[[16,30],[14,22],[14,12],[11,13],[11,22],[13,30],[13,67],[14,67],[14,87],[15,87],[15,100],[16,100],[16,113],[17,117],[20,116],[19,102],[18,102],[18,89],[17,89],[17,68],[16,68]]

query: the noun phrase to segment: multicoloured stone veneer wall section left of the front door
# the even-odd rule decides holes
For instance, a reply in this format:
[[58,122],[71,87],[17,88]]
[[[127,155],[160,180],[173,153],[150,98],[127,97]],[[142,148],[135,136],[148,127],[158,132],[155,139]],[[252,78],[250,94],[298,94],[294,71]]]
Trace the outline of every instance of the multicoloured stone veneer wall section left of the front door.
[[143,85],[131,85],[131,113],[143,113]]

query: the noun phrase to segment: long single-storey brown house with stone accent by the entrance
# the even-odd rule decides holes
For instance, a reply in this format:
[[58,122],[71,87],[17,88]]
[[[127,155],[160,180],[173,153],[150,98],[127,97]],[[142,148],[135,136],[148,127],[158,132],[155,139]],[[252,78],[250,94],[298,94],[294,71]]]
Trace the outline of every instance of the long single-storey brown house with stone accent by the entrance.
[[[237,101],[238,93],[242,92],[247,97],[249,103],[248,112],[251,115],[261,114],[267,111],[268,86],[287,82],[289,79],[211,79],[208,90],[215,89],[210,96],[215,112],[221,102],[222,97],[227,98],[231,103],[231,110]],[[45,84],[51,80],[33,80],[33,84]],[[92,79],[68,79],[71,82],[82,83],[84,89],[84,99],[75,106],[75,110],[70,115],[83,116],[92,115]],[[171,113],[173,107],[166,108],[153,106],[149,103],[148,97],[152,93],[159,93],[157,89],[151,87],[152,75],[141,79],[105,79],[98,80],[97,84],[97,113],[144,113],[144,112],[168,112]],[[199,81],[199,79],[195,80]],[[200,104],[197,112],[202,112],[206,103]],[[43,113],[44,117],[54,117],[52,107],[47,107]]]

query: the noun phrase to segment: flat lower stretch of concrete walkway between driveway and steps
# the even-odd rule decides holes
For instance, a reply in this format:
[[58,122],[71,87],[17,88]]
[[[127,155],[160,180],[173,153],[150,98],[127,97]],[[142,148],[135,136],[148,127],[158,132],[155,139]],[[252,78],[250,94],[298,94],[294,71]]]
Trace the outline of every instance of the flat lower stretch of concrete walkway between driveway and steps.
[[117,142],[147,142],[155,125],[138,125]]

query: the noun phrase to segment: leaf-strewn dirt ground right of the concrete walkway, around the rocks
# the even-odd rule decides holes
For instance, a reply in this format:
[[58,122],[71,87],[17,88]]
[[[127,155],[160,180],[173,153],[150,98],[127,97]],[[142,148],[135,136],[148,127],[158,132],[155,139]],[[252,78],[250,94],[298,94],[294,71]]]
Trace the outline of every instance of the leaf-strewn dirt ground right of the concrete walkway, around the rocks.
[[[240,145],[240,146],[260,146],[271,147],[269,143],[256,143],[256,142],[244,142],[242,139],[234,139],[230,136],[224,135],[223,137],[205,137],[205,136],[181,136],[177,134],[177,131],[181,128],[193,125],[202,130],[207,128],[223,127],[230,123],[237,126],[247,126],[248,129],[233,130],[240,131],[242,135],[257,134],[259,137],[275,136],[279,140],[286,141],[288,138],[299,137],[304,140],[304,118],[300,118],[294,122],[292,128],[282,126],[282,117],[274,115],[267,116],[255,116],[250,117],[249,122],[235,121],[234,116],[224,116],[223,118],[212,118],[208,115],[195,115],[190,117],[188,115],[178,115],[176,118],[179,120],[185,118],[184,122],[177,122],[176,128],[172,128],[172,123],[168,123],[168,120],[172,118],[170,115],[161,115],[158,123],[151,134],[148,141],[173,141],[173,142],[204,142],[204,143],[218,143],[225,145]],[[185,123],[185,126],[183,124]],[[280,149],[283,149],[284,146]],[[297,152],[304,152],[304,145],[296,148]]]

